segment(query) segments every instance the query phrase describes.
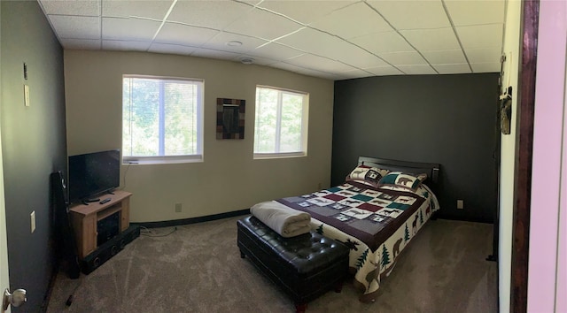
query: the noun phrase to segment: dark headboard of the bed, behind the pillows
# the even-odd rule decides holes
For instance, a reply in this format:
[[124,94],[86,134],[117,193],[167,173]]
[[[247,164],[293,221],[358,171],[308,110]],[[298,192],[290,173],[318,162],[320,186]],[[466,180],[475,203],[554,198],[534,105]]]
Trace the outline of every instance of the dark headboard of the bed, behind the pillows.
[[368,156],[359,156],[358,164],[374,166],[384,170],[410,172],[414,174],[421,174],[424,172],[427,174],[427,179],[425,180],[425,182],[431,181],[432,185],[437,185],[439,183],[439,164],[387,160],[384,158]]

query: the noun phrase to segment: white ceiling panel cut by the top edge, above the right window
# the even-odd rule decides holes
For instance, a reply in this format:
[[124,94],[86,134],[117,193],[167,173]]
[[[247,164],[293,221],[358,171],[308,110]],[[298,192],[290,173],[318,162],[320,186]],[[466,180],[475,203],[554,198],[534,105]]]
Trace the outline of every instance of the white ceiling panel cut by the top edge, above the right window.
[[297,1],[282,1],[282,0],[267,0],[260,3],[258,6],[276,11],[283,14],[290,19],[295,19],[299,23],[308,25],[322,16],[330,14],[345,7],[348,4],[353,4],[356,0],[350,1],[313,1],[313,0],[297,0]]

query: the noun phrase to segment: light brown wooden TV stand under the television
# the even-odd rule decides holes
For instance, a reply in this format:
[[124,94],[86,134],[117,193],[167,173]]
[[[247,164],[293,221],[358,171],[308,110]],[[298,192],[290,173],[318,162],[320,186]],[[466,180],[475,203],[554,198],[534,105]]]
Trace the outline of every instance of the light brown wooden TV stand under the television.
[[119,233],[124,232],[130,225],[130,196],[128,191],[115,190],[113,195],[100,195],[100,200],[110,198],[104,204],[90,202],[77,204],[69,209],[71,223],[77,242],[79,258],[89,256],[97,249],[97,222],[119,212]]

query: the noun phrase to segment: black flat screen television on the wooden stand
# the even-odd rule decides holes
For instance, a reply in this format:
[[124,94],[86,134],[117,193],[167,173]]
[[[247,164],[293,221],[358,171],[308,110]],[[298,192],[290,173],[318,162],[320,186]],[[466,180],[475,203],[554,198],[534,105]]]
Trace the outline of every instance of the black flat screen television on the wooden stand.
[[69,156],[69,202],[98,201],[120,186],[120,149]]

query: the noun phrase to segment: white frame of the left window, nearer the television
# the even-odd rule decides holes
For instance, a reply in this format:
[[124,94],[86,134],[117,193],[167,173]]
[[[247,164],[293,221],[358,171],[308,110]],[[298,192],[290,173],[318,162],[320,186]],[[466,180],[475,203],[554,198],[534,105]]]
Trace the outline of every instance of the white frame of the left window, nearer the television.
[[[179,164],[179,163],[195,163],[203,162],[204,155],[204,111],[205,111],[205,80],[195,79],[195,78],[184,78],[175,76],[157,76],[157,75],[138,75],[138,74],[122,74],[121,86],[124,87],[124,79],[151,79],[151,80],[172,80],[172,81],[190,81],[198,85],[197,93],[197,126],[196,126],[196,138],[197,138],[197,148],[196,153],[191,155],[171,155],[171,156],[125,156],[124,152],[124,116],[121,117],[121,147],[122,147],[122,164]],[[124,94],[122,91],[122,103],[121,109],[122,114],[124,114]],[[165,128],[164,128],[165,129]],[[162,134],[159,134],[162,135]]]

